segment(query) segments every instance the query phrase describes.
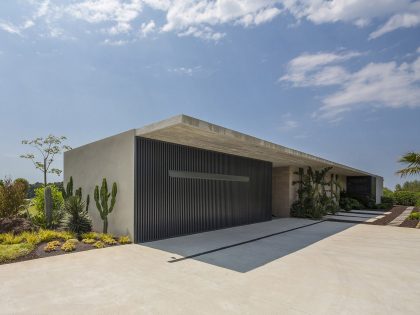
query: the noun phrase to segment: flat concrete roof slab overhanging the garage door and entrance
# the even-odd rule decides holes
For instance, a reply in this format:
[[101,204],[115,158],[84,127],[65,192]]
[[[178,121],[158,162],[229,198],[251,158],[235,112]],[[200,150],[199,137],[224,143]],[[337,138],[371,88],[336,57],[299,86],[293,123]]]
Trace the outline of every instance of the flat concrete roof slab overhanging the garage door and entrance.
[[261,140],[228,128],[186,116],[169,119],[136,129],[136,135],[183,144],[222,153],[269,161],[278,166],[332,166],[334,172],[348,176],[377,176],[350,166],[335,163],[311,154]]

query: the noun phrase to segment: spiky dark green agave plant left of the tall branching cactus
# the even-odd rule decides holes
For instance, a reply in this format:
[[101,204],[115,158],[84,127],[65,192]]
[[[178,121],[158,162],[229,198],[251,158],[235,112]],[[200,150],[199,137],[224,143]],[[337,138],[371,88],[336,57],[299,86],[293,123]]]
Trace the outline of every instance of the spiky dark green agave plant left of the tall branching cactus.
[[81,235],[92,231],[92,220],[85,208],[85,203],[78,196],[69,197],[63,206],[65,218],[63,227],[71,232]]

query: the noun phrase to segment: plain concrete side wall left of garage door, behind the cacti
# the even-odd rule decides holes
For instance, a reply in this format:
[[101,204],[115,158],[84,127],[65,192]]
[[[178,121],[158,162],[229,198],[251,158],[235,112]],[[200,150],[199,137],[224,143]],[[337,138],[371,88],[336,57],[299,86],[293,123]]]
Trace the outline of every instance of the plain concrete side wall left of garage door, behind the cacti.
[[64,153],[64,185],[73,177],[74,189],[90,195],[89,214],[93,229],[102,232],[102,219],[93,198],[95,185],[106,178],[108,189],[116,182],[117,200],[108,216],[108,232],[134,237],[134,153],[135,130],[106,138]]

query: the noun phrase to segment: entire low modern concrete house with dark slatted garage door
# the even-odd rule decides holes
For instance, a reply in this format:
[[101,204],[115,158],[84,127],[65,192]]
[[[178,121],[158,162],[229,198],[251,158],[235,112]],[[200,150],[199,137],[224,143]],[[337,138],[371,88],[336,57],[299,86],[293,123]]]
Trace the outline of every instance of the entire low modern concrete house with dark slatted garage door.
[[[331,166],[343,189],[380,202],[380,176],[185,115],[66,152],[64,181],[91,199],[102,178],[116,182],[109,232],[146,242],[287,217],[294,172],[308,166]],[[94,202],[89,212],[100,230]]]

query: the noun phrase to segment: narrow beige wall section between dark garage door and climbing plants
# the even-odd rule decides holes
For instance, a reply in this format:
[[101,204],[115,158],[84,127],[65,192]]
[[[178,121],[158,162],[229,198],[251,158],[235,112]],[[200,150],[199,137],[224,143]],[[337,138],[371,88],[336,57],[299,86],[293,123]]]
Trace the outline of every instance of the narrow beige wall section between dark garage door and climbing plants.
[[290,216],[291,205],[291,169],[290,167],[274,167],[272,172],[272,208],[276,217]]

